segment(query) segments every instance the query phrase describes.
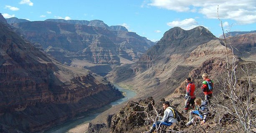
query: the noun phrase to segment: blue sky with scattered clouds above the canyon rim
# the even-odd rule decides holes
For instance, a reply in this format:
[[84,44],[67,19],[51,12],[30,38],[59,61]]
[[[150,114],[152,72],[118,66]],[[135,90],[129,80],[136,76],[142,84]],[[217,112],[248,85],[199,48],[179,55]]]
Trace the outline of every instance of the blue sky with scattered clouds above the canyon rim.
[[[172,27],[203,26],[216,37],[256,30],[256,0],[0,0],[5,18],[102,20],[155,42]],[[221,21],[220,21],[221,20]]]

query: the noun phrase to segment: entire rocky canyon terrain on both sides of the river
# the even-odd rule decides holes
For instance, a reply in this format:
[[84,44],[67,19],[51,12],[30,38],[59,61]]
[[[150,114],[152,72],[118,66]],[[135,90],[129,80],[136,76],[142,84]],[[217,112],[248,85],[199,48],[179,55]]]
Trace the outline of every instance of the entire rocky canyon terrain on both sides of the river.
[[[89,124],[89,133],[147,130],[152,124],[147,116],[131,110],[152,114],[153,105],[161,108],[161,101],[166,100],[181,111],[185,78],[193,79],[196,96],[203,97],[203,73],[215,81],[216,99],[228,103],[221,91],[228,64],[234,62],[239,69],[239,85],[246,86],[243,83],[247,77],[252,86],[256,85],[255,32],[236,32],[223,40],[202,26],[191,30],[173,27],[155,44],[125,27],[108,26],[101,20],[30,22],[18,18],[6,21],[0,16],[0,21],[2,131],[12,132],[12,127],[41,131],[79,112],[106,105],[122,97],[111,83],[138,95],[99,115]],[[250,100],[255,102],[255,93]],[[181,116],[183,123],[175,130],[186,128],[186,116]],[[211,125],[214,118],[206,125],[209,130],[218,128]]]

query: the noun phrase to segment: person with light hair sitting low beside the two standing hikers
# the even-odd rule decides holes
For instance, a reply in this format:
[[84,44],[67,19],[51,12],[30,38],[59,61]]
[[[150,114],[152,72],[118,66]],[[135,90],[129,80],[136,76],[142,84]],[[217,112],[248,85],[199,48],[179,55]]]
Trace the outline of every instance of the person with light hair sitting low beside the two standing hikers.
[[[196,116],[193,117],[193,114]],[[208,108],[205,101],[203,101],[200,98],[195,99],[195,110],[192,110],[189,112],[189,122],[186,123],[186,126],[190,126],[192,124],[195,124],[197,120],[203,120],[200,122],[201,125],[203,125],[206,122],[206,118],[208,115]]]

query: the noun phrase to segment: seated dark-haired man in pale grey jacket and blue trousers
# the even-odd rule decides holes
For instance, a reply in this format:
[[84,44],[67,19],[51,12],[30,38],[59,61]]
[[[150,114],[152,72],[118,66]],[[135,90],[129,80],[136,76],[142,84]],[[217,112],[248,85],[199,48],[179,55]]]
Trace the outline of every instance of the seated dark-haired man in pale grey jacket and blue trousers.
[[171,126],[172,123],[177,122],[177,118],[174,118],[175,114],[173,113],[171,107],[170,107],[170,103],[168,101],[165,101],[163,104],[163,108],[164,108],[164,116],[162,118],[161,121],[157,121],[156,123],[154,123],[150,130],[144,133],[152,133],[155,129],[156,129],[156,125],[157,126],[161,126],[161,125],[165,125],[165,126]]

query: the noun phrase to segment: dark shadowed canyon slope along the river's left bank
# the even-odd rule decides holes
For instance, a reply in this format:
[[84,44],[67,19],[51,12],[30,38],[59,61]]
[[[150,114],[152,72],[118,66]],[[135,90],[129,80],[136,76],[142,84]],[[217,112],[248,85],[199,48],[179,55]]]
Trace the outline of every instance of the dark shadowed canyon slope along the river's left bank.
[[56,62],[8,26],[0,22],[0,130],[42,131],[122,97],[103,77]]

